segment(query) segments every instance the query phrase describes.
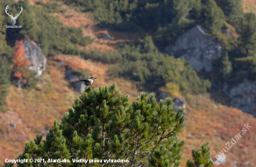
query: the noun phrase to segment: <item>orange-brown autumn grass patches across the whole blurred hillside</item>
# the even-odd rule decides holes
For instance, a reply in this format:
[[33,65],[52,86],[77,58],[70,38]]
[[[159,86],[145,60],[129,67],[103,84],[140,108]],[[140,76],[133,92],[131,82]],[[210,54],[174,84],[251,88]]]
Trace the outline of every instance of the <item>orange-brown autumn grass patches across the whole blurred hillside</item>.
[[[35,4],[36,0],[29,0]],[[43,2],[48,2],[43,0]],[[254,1],[244,0],[245,11],[256,11],[252,6]],[[119,42],[144,39],[145,33],[116,32],[108,28],[99,28],[96,21],[87,13],[76,11],[72,7],[62,6],[67,13],[53,13],[63,25],[83,28],[84,36],[95,38],[87,50],[99,49],[101,52],[116,51]],[[70,15],[70,16],[69,16]],[[109,33],[113,40],[103,40],[99,34]],[[83,46],[79,46],[84,48]],[[63,62],[59,67],[56,60]],[[11,86],[7,96],[7,112],[0,113],[0,166],[6,158],[15,159],[22,153],[27,140],[35,138],[36,134],[44,134],[53,126],[54,120],[60,120],[68,107],[72,107],[74,100],[81,93],[75,92],[65,76],[65,66],[72,69],[81,68],[97,79],[93,86],[105,86],[117,83],[117,87],[130,95],[130,101],[140,94],[141,89],[135,87],[130,80],[113,77],[108,72],[109,65],[91,60],[84,60],[76,55],[59,54],[47,59],[47,69],[39,77],[36,89],[19,90]],[[243,125],[251,128],[227,152],[227,162],[218,167],[255,167],[256,166],[256,118],[243,111],[227,107],[211,100],[209,95],[190,95],[186,104],[187,116],[185,131],[181,139],[185,140],[181,167],[185,167],[187,158],[191,158],[191,148],[199,148],[203,141],[209,141],[212,158],[225,148],[225,144],[238,133],[242,134]],[[11,124],[14,123],[13,127]]]

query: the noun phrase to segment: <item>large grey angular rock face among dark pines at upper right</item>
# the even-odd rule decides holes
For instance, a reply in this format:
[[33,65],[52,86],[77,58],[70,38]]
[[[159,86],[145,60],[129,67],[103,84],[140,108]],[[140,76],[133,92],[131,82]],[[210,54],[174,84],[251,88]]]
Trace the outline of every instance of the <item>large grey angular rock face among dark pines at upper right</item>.
[[202,25],[196,25],[179,36],[175,45],[164,48],[164,52],[184,58],[196,70],[212,70],[212,60],[222,54],[220,42],[208,36]]

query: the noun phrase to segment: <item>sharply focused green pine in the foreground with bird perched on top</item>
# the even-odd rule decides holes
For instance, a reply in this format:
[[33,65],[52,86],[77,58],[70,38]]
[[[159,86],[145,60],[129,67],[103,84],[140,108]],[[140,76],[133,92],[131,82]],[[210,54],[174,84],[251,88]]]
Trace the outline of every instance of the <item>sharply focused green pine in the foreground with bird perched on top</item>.
[[[61,122],[54,121],[46,140],[37,135],[27,141],[18,157],[47,163],[28,161],[18,166],[178,167],[184,145],[178,138],[184,127],[183,109],[175,113],[170,98],[158,104],[154,93],[141,93],[132,104],[128,100],[128,94],[121,93],[115,83],[87,87],[80,100],[74,101],[74,109],[68,108]],[[48,161],[51,159],[70,162]],[[75,161],[80,159],[91,163]],[[107,163],[109,159],[120,161]],[[208,162],[210,157],[203,160]]]

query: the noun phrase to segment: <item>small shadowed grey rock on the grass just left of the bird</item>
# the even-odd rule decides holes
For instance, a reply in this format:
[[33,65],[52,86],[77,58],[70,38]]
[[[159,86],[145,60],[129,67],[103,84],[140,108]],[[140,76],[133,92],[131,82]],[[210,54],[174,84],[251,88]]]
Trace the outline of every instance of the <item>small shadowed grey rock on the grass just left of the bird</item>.
[[79,79],[79,75],[75,73],[71,68],[67,68],[65,73],[67,80],[74,87],[74,90],[77,92],[84,92],[85,85],[82,82],[77,81]]

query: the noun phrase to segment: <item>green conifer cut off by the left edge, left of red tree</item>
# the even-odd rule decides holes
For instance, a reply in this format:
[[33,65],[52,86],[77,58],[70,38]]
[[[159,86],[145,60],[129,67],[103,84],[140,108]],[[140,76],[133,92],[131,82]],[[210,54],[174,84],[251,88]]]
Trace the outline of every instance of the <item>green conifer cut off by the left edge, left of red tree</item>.
[[8,60],[6,56],[0,56],[0,111],[5,111],[6,96],[10,87],[11,70],[8,68]]

